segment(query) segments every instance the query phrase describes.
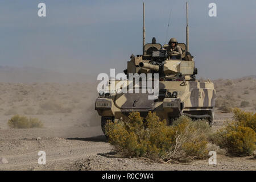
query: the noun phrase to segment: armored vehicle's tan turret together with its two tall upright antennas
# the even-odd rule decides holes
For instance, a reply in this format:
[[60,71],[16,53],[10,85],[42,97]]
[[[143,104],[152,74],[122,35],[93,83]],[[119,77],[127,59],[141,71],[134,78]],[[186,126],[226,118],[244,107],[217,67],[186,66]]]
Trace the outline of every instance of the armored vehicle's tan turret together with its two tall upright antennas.
[[[145,44],[144,28],[144,3],[143,3],[143,53],[142,55],[131,55],[127,62],[126,75],[129,73],[158,73],[161,78],[183,77],[185,80],[195,80],[197,69],[193,56],[189,53],[189,28],[188,28],[188,3],[187,3],[187,27],[186,44],[177,43],[181,48],[181,55],[167,55],[168,45],[163,46],[152,39],[152,43]],[[169,80],[169,79],[167,79]]]

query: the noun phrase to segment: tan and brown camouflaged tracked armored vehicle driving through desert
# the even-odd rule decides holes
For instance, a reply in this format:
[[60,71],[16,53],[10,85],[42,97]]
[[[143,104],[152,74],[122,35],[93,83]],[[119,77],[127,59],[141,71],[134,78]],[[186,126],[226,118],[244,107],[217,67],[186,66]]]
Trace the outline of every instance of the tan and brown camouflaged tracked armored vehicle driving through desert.
[[[100,92],[95,109],[102,117],[102,131],[105,131],[104,126],[107,120],[127,119],[132,111],[139,111],[142,116],[146,116],[148,111],[155,111],[160,118],[167,119],[169,123],[180,115],[206,118],[209,123],[212,122],[216,92],[210,80],[205,82],[196,80],[195,61],[191,53],[188,52],[188,24],[187,44],[178,43],[177,45],[182,50],[181,55],[168,54],[166,50],[168,45],[162,46],[156,43],[155,38],[152,39],[152,43],[144,44],[143,27],[143,55],[132,55],[124,72],[127,77],[131,73],[139,75],[144,73],[147,81],[148,73],[151,73],[153,86],[154,82],[158,81],[155,79],[155,75],[158,73],[158,97],[149,100],[149,94],[141,92],[143,77],[139,80],[139,93]],[[121,81],[114,80],[112,82],[117,85]],[[127,87],[129,84],[130,82],[127,81],[124,85]],[[135,87],[134,83],[132,87]]]

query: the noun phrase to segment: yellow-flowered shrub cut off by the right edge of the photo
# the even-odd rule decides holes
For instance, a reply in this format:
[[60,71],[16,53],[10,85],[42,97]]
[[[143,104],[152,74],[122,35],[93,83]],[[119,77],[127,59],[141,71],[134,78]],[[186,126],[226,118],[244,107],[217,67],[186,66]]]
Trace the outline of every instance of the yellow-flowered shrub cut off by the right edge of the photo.
[[245,156],[253,154],[256,146],[256,114],[234,109],[234,121],[212,136],[212,142],[225,148],[228,154]]

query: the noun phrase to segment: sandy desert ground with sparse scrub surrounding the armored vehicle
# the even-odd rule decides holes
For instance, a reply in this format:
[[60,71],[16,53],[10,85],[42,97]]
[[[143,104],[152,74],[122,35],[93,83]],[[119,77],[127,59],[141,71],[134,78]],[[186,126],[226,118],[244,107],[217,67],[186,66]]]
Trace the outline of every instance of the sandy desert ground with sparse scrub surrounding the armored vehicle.
[[[0,170],[256,170],[252,156],[230,157],[221,152],[217,165],[209,165],[208,160],[160,164],[121,158],[106,141],[94,110],[96,82],[88,77],[76,81],[75,76],[68,80],[61,75],[66,82],[38,77],[27,82],[19,80],[20,75],[15,77],[17,82],[0,79]],[[255,76],[213,82],[218,100],[213,130],[232,119],[226,107],[256,111]],[[38,118],[44,126],[10,129],[7,122],[15,114]],[[46,152],[46,165],[38,164],[39,151]]]

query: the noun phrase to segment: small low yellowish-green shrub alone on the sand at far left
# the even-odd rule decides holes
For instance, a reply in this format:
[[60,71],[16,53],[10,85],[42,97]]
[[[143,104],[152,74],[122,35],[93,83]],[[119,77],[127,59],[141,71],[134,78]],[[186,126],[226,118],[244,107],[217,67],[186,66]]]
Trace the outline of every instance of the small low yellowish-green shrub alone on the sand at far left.
[[9,127],[13,129],[28,129],[32,127],[43,127],[43,123],[37,118],[27,118],[26,116],[14,115],[9,119]]

